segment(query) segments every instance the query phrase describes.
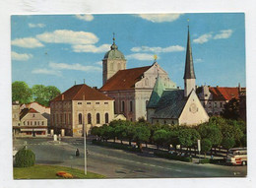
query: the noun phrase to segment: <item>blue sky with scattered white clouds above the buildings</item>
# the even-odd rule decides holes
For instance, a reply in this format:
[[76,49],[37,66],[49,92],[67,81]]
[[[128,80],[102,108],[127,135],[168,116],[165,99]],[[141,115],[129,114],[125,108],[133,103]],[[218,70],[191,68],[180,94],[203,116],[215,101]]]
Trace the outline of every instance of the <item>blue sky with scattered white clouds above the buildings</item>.
[[[189,22],[188,22],[189,20]],[[196,85],[245,87],[244,14],[12,16],[12,82],[100,88],[102,59],[113,32],[127,68],[158,63],[184,88],[189,24]]]

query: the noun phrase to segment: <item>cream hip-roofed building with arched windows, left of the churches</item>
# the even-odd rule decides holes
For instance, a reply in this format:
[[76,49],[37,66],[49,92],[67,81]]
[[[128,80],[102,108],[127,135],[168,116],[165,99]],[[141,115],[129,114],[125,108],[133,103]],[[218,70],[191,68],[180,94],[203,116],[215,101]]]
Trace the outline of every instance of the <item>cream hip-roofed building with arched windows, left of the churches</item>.
[[83,84],[75,85],[50,101],[51,126],[55,134],[81,137],[92,127],[114,118],[113,99]]

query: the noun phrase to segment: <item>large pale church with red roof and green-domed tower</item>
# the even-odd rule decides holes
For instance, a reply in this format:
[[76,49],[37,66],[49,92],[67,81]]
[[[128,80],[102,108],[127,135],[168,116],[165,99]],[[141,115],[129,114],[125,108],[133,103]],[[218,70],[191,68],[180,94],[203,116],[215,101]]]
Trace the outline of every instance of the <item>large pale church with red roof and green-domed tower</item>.
[[126,59],[118,50],[114,37],[102,65],[103,86],[99,91],[114,99],[114,113],[123,114],[127,120],[147,119],[146,106],[158,76],[166,89],[177,88],[160,68],[157,58],[150,66],[126,69]]

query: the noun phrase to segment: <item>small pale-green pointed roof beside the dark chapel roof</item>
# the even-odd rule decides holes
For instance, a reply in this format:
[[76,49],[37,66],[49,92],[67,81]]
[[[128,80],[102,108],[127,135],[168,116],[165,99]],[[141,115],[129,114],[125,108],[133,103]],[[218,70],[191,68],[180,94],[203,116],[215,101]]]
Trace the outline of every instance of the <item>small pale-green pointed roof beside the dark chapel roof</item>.
[[164,91],[164,87],[161,83],[160,77],[157,78],[154,89],[152,91],[149,103],[147,105],[148,108],[155,108],[160,100],[160,96]]

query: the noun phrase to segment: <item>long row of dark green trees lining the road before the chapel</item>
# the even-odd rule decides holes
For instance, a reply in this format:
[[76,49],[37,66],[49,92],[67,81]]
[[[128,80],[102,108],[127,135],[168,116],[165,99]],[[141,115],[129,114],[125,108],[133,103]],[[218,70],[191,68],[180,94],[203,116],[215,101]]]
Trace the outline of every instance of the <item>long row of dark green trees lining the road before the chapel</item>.
[[[136,142],[142,148],[142,143],[156,144],[170,149],[170,145],[177,149],[196,149],[197,140],[201,140],[201,150],[204,153],[212,148],[222,146],[224,149],[246,146],[246,125],[243,121],[227,120],[222,117],[211,117],[208,123],[195,127],[169,126],[150,124],[146,121],[122,121],[114,120],[108,125],[94,127],[91,132],[99,140],[107,141],[115,139]],[[196,151],[196,150],[195,150]],[[215,150],[216,152],[216,150]]]

